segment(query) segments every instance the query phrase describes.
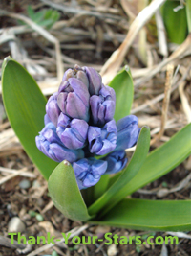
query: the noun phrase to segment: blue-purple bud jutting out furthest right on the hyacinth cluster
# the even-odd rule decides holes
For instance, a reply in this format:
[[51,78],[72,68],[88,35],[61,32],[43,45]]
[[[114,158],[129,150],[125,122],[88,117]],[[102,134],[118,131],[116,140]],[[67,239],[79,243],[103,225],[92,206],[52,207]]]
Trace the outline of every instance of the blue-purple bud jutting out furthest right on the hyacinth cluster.
[[118,120],[116,150],[125,150],[133,147],[138,141],[139,131],[137,116],[129,115]]

